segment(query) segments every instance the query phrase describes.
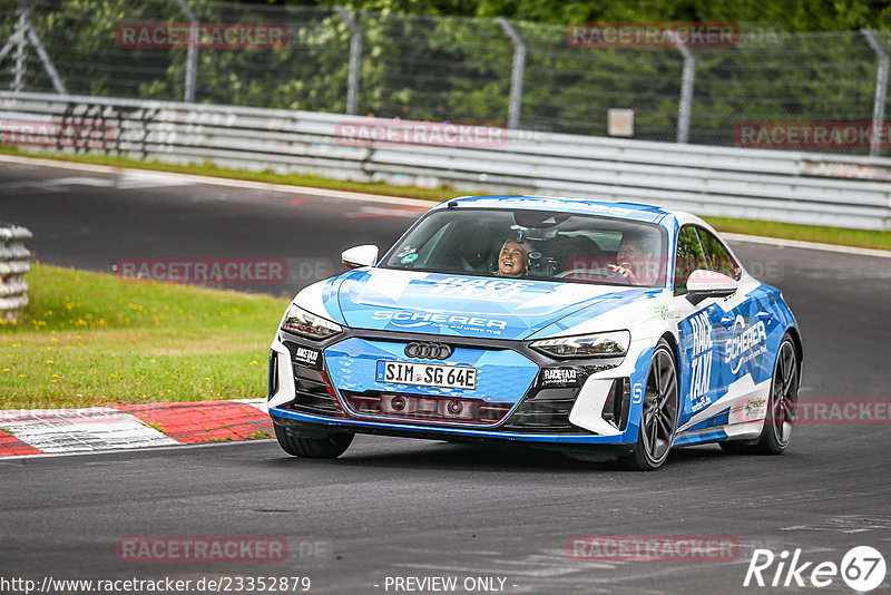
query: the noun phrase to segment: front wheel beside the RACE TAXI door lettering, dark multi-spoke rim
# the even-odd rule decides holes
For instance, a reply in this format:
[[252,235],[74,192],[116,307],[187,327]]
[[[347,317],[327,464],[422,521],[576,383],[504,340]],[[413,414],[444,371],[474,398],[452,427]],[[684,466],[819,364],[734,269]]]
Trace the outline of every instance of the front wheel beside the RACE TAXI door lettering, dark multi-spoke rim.
[[620,459],[623,467],[655,471],[663,466],[677,430],[678,399],[677,362],[672,348],[660,339],[647,372],[637,445],[630,455]]

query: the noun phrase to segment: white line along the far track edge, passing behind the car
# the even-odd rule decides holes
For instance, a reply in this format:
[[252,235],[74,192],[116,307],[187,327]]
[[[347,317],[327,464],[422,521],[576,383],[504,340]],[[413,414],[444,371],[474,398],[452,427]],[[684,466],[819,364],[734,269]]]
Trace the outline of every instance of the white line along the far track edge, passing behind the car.
[[[385,196],[381,194],[366,194],[361,192],[334,191],[329,188],[313,188],[309,186],[291,186],[288,184],[271,184],[266,182],[248,182],[243,179],[228,179],[213,176],[197,176],[193,174],[177,174],[157,169],[139,169],[129,167],[111,167],[108,165],[91,165],[76,162],[62,162],[56,159],[41,159],[38,157],[20,157],[18,155],[0,155],[0,163],[14,163],[20,165],[41,165],[47,167],[59,167],[63,169],[75,169],[79,172],[94,172],[99,174],[123,174],[157,172],[164,174],[168,179],[180,179],[185,184],[212,184],[216,186],[227,186],[231,188],[247,188],[256,191],[283,192],[288,194],[309,194],[312,196],[324,196],[326,198],[340,198],[343,201],[364,201],[369,203],[382,203],[389,205],[409,205],[432,207],[437,203],[433,201],[422,201],[419,198],[403,198],[400,196]],[[891,251],[861,248],[853,246],[840,246],[834,244],[821,244],[817,242],[802,242],[800,240],[781,240],[761,235],[743,235],[722,233],[722,237],[735,242],[748,242],[753,244],[768,244],[781,247],[796,247],[803,250],[822,250],[824,252],[836,252],[840,254],[856,254],[860,256],[878,256],[880,259],[891,259]]]

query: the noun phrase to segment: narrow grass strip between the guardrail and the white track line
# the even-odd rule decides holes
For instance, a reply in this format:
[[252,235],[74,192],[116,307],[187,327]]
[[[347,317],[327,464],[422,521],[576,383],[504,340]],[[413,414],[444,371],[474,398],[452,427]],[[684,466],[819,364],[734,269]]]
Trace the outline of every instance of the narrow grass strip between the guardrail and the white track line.
[[[380,183],[349,182],[329,179],[316,176],[297,174],[275,174],[272,172],[249,172],[247,169],[229,169],[217,167],[210,163],[177,165],[163,162],[144,162],[128,157],[112,155],[70,155],[51,152],[23,152],[14,147],[0,147],[0,154],[20,155],[26,157],[40,157],[65,162],[88,163],[107,165],[111,167],[133,167],[137,169],[153,169],[160,172],[176,172],[199,176],[216,176],[229,179],[247,179],[252,182],[266,182],[271,184],[288,184],[293,186],[310,186],[339,191],[363,192],[384,196],[401,196],[407,198],[422,198],[442,202],[453,198],[456,192],[449,187],[418,188],[393,186]],[[877,232],[869,230],[849,230],[844,227],[824,227],[817,225],[797,225],[793,223],[765,222],[753,220],[731,220],[723,217],[704,217],[719,232],[760,235],[766,237],[781,237],[785,240],[801,240],[844,246],[868,247],[891,251],[891,232]]]

